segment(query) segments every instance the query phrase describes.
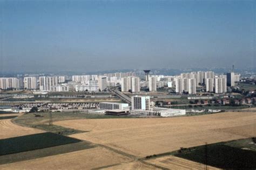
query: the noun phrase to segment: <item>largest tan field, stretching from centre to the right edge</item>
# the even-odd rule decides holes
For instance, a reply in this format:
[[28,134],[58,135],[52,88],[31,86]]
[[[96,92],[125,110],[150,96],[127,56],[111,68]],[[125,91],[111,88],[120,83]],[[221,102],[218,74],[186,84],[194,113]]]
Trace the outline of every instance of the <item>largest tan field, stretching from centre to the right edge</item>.
[[90,131],[71,137],[103,144],[140,158],[206,142],[256,136],[255,112],[175,118],[82,119],[55,124]]

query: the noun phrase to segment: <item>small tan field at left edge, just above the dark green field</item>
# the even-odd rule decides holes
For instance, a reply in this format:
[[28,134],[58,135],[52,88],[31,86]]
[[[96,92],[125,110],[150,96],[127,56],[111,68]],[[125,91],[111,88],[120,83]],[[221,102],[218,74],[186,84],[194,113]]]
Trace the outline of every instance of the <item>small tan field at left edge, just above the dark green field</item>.
[[42,133],[44,131],[16,125],[11,122],[11,119],[3,119],[0,120],[0,132],[0,139],[5,139],[28,134]]

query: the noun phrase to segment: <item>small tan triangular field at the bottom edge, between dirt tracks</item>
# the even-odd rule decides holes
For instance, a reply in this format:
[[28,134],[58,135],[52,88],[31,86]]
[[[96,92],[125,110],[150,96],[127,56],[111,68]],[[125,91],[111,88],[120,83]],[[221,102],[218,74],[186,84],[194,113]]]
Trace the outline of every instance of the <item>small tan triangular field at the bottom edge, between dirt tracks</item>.
[[129,162],[129,163],[124,163],[124,164],[120,164],[120,165],[116,165],[116,166],[111,166],[111,167],[106,167],[106,168],[102,168],[102,169],[160,169],[151,165],[146,165],[143,162],[139,162],[139,161],[133,161],[133,162]]

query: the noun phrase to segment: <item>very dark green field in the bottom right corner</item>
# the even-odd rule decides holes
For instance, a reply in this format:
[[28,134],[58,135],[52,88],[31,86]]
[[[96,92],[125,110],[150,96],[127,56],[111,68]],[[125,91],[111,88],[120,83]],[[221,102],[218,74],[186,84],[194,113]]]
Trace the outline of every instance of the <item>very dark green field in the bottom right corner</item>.
[[[238,143],[240,142],[238,141]],[[254,150],[251,150],[248,147],[236,147],[235,141],[233,141],[233,144],[234,146],[225,143],[198,146],[174,155],[223,169],[255,169],[256,145],[251,144],[250,147],[254,145]]]

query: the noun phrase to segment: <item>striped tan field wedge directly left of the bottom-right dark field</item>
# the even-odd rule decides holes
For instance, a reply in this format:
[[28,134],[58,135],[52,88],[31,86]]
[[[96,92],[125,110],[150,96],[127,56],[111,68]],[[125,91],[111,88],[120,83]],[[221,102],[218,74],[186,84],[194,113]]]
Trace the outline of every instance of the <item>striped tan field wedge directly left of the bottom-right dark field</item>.
[[[198,162],[193,162],[179,157],[174,157],[172,155],[160,157],[156,159],[150,159],[146,162],[151,164],[158,165],[168,169],[206,169],[204,164]],[[207,166],[207,169],[218,169],[215,167]]]

